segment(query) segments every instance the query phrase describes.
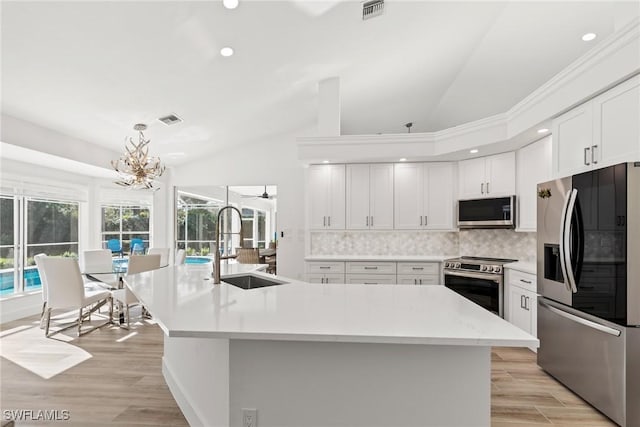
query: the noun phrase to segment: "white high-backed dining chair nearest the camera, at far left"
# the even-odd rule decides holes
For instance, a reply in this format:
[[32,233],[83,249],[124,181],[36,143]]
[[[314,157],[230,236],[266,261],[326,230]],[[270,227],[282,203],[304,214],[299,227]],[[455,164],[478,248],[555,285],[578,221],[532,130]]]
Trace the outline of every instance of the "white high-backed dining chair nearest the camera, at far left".
[[[45,335],[49,333],[51,312],[56,309],[78,309],[78,319],[69,326],[54,332],[58,333],[77,324],[78,336],[91,332],[99,327],[111,323],[112,304],[111,293],[107,290],[85,289],[82,274],[78,262],[73,258],[41,257],[38,265],[42,266],[47,288],[47,301],[45,309]],[[109,303],[109,318],[89,330],[82,331],[82,322],[91,316],[104,304]],[[87,312],[83,310],[88,307]]]

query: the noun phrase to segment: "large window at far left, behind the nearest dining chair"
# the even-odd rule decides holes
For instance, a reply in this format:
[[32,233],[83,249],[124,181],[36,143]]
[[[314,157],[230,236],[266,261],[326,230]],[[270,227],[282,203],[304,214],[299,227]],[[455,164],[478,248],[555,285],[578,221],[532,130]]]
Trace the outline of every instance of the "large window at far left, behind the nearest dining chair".
[[40,289],[39,253],[77,258],[78,203],[0,197],[1,296]]

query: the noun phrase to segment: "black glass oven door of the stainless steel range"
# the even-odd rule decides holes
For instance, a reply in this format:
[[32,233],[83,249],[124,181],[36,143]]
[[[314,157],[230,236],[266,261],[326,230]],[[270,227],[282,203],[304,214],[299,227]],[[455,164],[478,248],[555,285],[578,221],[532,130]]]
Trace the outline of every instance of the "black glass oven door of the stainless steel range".
[[479,306],[504,317],[501,274],[445,270],[444,285]]

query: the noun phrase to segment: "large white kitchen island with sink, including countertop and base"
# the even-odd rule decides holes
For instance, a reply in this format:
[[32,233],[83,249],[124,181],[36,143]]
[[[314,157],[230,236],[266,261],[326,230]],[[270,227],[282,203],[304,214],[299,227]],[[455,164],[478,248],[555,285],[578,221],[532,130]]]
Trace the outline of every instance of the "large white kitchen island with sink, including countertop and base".
[[[242,273],[223,266],[225,275]],[[210,266],[128,276],[165,333],[191,425],[489,426],[492,346],[538,341],[444,286],[213,285]],[[274,276],[252,273],[263,277]]]

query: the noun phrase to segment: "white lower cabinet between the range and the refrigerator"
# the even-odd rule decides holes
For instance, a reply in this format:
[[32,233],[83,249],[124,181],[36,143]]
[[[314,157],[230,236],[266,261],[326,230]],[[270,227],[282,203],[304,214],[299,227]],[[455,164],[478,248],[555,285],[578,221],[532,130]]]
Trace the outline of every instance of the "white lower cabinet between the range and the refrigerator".
[[[506,320],[523,331],[538,336],[538,295],[535,274],[507,269],[505,296]],[[535,348],[532,348],[536,351]]]

